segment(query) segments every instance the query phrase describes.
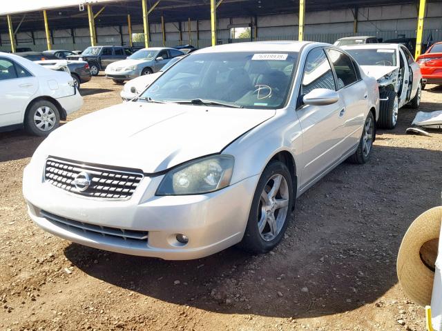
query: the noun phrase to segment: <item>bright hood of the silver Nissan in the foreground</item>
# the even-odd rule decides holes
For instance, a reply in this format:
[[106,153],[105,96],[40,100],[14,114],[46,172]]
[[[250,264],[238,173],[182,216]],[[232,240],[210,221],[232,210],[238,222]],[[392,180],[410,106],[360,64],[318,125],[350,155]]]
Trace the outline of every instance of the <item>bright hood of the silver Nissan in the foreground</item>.
[[155,173],[221,152],[275,113],[275,110],[128,102],[66,123],[52,132],[37,152],[46,157]]

